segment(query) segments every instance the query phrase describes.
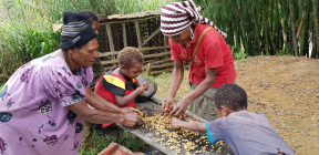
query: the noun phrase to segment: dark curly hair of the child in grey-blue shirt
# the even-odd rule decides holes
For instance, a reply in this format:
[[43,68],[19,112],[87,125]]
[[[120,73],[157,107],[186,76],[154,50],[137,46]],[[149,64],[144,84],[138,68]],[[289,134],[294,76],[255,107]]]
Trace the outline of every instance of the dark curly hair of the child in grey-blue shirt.
[[215,93],[215,107],[220,108],[222,105],[228,106],[231,111],[240,111],[247,108],[247,94],[237,84],[225,84]]

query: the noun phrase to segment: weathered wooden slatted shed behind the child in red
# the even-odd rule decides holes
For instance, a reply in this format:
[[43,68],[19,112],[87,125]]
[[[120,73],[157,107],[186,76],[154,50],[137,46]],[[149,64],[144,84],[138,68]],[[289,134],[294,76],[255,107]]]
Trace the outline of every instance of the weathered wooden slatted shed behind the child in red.
[[116,56],[125,46],[135,46],[144,53],[144,71],[160,74],[173,70],[167,38],[161,33],[161,11],[126,16],[99,14],[99,52],[105,70],[117,65]]

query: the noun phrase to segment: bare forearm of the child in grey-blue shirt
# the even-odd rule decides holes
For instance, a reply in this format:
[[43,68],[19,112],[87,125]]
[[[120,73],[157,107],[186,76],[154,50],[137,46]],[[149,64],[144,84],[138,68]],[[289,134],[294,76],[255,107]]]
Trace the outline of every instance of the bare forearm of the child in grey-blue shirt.
[[206,123],[202,122],[185,122],[181,121],[176,117],[172,120],[172,127],[173,128],[185,128],[192,132],[207,132],[206,130]]

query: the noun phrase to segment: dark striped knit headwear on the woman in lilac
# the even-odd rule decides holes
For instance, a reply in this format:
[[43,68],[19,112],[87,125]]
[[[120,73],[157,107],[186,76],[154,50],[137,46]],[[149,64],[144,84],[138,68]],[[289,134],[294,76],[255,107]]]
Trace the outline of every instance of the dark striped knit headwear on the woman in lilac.
[[86,44],[96,38],[91,18],[83,12],[64,12],[60,48],[63,50]]

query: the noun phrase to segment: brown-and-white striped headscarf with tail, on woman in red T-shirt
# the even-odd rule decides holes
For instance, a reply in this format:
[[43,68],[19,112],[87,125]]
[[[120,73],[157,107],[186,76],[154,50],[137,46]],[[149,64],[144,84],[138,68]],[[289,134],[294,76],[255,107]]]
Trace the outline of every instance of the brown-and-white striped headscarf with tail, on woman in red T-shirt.
[[204,23],[216,29],[224,38],[227,37],[212,21],[198,13],[193,0],[173,2],[162,7],[161,31],[164,35],[173,37],[184,32],[192,25],[192,21],[196,23],[204,21]]

